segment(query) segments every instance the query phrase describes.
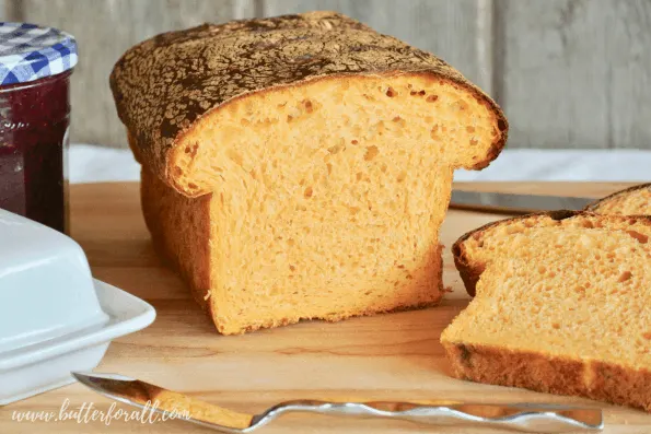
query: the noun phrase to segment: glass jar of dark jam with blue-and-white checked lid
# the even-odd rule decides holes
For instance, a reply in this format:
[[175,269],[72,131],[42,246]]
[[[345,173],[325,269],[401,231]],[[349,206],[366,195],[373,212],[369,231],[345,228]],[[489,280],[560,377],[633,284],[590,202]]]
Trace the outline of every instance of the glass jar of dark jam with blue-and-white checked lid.
[[0,208],[68,230],[68,128],[74,38],[0,23]]

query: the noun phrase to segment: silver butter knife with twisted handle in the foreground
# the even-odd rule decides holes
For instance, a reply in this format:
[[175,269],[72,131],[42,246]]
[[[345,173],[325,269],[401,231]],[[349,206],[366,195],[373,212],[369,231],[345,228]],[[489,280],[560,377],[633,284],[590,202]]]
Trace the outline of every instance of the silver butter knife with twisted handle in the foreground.
[[183,414],[183,421],[229,434],[249,433],[289,412],[407,420],[433,425],[474,424],[533,433],[600,431],[604,426],[601,409],[542,403],[295,400],[281,402],[259,414],[247,414],[123,375],[79,372],[72,375],[108,398],[160,414]]

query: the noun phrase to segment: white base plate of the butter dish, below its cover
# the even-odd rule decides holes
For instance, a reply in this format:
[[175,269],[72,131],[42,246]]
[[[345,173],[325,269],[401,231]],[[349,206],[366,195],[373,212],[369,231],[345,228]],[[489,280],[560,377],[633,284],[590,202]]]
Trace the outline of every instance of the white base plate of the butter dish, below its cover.
[[96,367],[112,340],[153,322],[149,303],[98,280],[94,286],[108,321],[0,352],[0,406],[73,383],[70,372]]

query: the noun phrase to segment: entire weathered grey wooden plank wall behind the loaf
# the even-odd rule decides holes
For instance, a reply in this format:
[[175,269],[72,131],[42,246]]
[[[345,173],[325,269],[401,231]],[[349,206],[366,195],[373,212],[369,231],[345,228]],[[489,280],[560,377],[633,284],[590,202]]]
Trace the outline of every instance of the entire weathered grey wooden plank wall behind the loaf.
[[651,149],[651,0],[0,0],[0,20],[78,38],[72,140],[124,146],[107,80],[128,47],[202,22],[316,9],[460,69],[504,108],[509,148]]

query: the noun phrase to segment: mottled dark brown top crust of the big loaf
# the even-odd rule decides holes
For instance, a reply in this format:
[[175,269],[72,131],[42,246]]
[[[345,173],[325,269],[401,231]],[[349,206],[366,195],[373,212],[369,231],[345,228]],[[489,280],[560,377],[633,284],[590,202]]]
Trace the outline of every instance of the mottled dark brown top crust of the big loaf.
[[332,77],[433,75],[470,92],[501,130],[483,168],[507,140],[501,109],[443,60],[335,12],[205,24],[129,49],[111,74],[118,115],[137,160],[168,185],[168,153],[204,115],[253,92]]

